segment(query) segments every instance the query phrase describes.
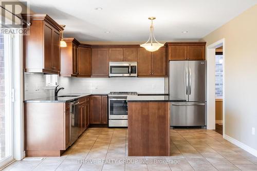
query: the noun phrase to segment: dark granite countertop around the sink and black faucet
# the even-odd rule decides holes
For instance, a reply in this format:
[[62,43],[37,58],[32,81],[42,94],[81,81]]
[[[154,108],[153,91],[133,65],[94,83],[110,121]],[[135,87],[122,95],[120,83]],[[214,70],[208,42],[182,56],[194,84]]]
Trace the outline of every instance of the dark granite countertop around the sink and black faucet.
[[108,95],[108,93],[69,93],[69,94],[62,94],[60,96],[77,96],[77,97],[46,97],[46,98],[25,100],[24,103],[66,103],[66,102],[74,101],[76,99],[83,98],[89,95]]

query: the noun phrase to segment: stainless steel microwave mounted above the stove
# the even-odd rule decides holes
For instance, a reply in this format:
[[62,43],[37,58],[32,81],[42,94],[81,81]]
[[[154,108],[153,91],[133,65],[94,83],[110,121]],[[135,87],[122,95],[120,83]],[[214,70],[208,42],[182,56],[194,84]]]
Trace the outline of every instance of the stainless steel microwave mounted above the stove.
[[109,77],[137,77],[137,62],[109,62]]

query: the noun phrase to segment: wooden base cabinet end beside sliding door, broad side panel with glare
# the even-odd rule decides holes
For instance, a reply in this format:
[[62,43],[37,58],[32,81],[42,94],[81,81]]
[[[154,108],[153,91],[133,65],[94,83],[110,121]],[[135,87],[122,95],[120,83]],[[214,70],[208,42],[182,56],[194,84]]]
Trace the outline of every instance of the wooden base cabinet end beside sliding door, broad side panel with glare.
[[70,145],[69,112],[69,103],[24,103],[27,157],[62,155]]

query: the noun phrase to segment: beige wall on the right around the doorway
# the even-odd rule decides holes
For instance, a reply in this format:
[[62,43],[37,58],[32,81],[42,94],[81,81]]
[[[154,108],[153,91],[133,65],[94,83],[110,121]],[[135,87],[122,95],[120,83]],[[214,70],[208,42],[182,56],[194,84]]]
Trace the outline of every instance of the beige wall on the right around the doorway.
[[[257,5],[203,37],[225,38],[225,134],[257,150]],[[211,20],[211,19],[210,19]]]

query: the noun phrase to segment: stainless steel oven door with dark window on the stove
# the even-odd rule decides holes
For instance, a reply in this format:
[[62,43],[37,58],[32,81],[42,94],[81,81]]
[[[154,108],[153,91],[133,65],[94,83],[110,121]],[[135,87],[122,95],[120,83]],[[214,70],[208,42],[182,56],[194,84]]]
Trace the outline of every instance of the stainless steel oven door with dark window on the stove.
[[126,99],[109,99],[109,119],[127,119]]

